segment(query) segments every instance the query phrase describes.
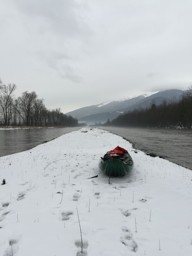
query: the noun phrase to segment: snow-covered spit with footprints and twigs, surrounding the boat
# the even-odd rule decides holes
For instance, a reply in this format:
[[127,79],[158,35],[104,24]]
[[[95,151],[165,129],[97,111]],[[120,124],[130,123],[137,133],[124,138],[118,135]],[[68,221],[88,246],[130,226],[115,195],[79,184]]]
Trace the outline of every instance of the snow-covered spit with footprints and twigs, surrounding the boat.
[[[108,184],[98,162],[117,145],[134,168]],[[83,128],[1,157],[0,255],[191,255],[191,171],[137,152],[122,137]]]

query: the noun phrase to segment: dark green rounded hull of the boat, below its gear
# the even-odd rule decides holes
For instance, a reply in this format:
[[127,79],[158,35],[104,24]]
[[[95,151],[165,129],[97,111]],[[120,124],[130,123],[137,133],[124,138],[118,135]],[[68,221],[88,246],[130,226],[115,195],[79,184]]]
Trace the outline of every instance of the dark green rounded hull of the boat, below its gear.
[[108,176],[124,176],[132,170],[133,161],[124,162],[119,159],[103,161],[101,159],[99,162],[99,168]]

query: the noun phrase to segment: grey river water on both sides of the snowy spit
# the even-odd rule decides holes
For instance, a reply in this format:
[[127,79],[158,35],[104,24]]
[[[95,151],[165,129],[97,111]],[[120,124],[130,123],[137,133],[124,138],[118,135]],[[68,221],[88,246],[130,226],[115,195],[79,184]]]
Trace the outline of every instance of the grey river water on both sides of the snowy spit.
[[[52,140],[79,128],[0,130],[0,156],[28,150],[45,140]],[[133,143],[136,149],[167,156],[167,160],[192,170],[192,130],[122,127],[101,129],[124,137]]]

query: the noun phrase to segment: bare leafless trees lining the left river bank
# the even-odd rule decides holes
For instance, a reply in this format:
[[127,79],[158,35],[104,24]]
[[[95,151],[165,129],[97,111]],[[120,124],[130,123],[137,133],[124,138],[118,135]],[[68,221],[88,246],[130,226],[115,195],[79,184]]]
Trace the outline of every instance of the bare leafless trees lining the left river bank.
[[77,118],[63,114],[61,108],[48,110],[34,91],[15,98],[16,88],[15,84],[3,84],[0,78],[0,125],[78,126]]

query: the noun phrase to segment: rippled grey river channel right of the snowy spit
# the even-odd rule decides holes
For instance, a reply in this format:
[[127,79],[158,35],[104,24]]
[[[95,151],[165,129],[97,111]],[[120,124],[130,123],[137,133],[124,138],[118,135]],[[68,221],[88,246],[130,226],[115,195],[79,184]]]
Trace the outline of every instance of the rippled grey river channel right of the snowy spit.
[[135,127],[101,129],[124,137],[134,144],[134,148],[167,156],[167,160],[192,170],[192,130]]

